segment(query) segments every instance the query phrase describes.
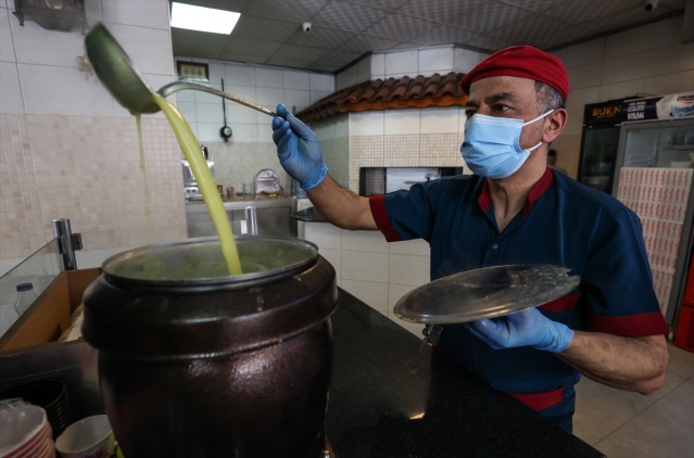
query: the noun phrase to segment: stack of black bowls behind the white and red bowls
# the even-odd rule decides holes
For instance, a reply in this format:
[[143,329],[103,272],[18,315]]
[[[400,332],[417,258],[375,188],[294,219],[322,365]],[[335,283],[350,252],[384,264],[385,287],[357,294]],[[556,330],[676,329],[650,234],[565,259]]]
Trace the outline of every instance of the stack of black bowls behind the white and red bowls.
[[46,410],[48,421],[53,429],[53,438],[58,437],[71,422],[70,404],[65,384],[59,380],[39,380],[12,389],[0,398],[18,397],[26,403]]

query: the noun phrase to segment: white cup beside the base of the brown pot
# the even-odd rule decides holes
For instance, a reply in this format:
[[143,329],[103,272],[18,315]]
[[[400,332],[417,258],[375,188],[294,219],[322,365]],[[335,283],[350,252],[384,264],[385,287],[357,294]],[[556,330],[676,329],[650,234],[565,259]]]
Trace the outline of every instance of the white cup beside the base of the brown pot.
[[110,458],[114,446],[113,429],[105,415],[75,422],[55,440],[61,458]]

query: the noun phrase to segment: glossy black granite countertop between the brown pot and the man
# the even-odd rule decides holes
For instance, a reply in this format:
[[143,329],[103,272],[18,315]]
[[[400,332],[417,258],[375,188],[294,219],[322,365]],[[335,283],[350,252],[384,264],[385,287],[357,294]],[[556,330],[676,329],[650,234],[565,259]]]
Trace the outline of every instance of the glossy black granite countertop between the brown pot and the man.
[[342,290],[332,333],[338,458],[603,456]]

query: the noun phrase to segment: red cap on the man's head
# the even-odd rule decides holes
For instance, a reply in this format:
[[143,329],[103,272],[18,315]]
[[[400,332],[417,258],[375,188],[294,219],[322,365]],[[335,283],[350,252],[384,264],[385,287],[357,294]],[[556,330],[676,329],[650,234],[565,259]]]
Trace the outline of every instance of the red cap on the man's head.
[[469,96],[472,82],[492,76],[534,79],[552,86],[564,100],[569,96],[569,74],[561,61],[531,46],[515,46],[496,51],[463,77],[460,88]]

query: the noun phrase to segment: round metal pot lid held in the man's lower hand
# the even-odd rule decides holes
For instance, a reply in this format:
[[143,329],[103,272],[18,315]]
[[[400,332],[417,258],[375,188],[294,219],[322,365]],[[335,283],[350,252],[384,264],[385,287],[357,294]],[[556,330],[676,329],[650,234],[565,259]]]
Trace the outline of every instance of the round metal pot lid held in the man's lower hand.
[[537,307],[572,291],[580,276],[567,267],[507,265],[454,273],[424,284],[394,307],[406,321],[451,325],[504,316]]

